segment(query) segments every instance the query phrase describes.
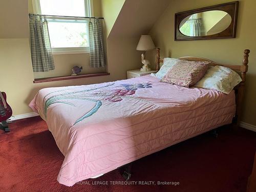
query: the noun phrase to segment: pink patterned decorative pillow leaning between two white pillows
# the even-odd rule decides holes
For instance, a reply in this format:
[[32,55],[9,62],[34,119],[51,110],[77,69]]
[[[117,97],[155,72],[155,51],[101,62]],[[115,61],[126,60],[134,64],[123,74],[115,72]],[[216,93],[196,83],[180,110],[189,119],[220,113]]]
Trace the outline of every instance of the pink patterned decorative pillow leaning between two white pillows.
[[164,75],[161,82],[188,88],[196,84],[208,68],[209,62],[181,60]]

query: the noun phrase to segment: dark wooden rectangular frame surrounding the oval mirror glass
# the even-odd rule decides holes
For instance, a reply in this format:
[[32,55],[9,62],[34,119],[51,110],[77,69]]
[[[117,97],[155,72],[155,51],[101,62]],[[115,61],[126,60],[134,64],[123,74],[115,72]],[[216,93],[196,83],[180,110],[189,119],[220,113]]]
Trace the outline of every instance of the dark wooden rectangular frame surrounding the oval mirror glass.
[[[204,7],[200,9],[194,9],[190,11],[184,11],[180,13],[175,13],[175,40],[199,40],[199,39],[220,39],[220,38],[235,38],[237,31],[237,18],[238,18],[238,5],[239,2],[230,2],[225,4],[219,4],[210,7]],[[225,11],[231,16],[231,23],[227,29],[220,33],[216,33],[213,35],[205,35],[205,36],[187,36],[180,32],[180,23],[184,18],[189,15],[200,13],[204,11]]]

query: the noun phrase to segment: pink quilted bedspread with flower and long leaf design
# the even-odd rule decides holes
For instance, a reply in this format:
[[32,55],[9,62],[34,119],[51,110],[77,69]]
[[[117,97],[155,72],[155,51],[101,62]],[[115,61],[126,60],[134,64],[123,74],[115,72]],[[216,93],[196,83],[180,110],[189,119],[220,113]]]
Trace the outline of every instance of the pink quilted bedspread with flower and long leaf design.
[[150,75],[42,89],[30,107],[65,156],[57,180],[68,186],[231,123],[236,109],[233,92],[188,89]]

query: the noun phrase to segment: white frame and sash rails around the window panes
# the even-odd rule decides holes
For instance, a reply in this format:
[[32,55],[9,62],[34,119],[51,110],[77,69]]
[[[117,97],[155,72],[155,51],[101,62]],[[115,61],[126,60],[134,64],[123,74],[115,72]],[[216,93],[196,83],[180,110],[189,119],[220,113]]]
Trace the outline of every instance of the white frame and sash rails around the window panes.
[[[33,12],[35,14],[41,14],[40,8],[40,0],[32,1],[33,5]],[[84,12],[86,16],[92,17],[94,15],[93,12],[93,0],[84,0]],[[65,15],[64,15],[65,16]],[[65,20],[84,20],[84,18],[72,18],[72,17],[51,17],[47,16],[48,19],[65,19]],[[50,21],[48,21],[50,22]],[[76,23],[76,22],[74,22]],[[89,33],[89,26],[88,26],[88,33]],[[90,37],[89,37],[89,45],[90,45]],[[63,54],[82,54],[82,53],[90,53],[90,46],[89,47],[68,47],[68,48],[52,48],[53,55],[63,55]]]

